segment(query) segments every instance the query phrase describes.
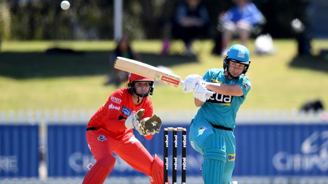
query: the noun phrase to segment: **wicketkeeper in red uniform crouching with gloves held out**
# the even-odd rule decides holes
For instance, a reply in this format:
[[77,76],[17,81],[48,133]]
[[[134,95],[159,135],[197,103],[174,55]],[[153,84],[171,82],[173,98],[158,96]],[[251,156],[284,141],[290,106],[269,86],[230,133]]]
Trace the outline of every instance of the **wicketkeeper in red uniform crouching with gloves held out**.
[[96,163],[84,183],[103,183],[113,170],[116,153],[136,170],[149,176],[150,183],[163,183],[163,161],[154,157],[135,138],[136,129],[147,140],[158,133],[161,120],[153,115],[154,81],[131,73],[126,88],[117,89],[88,123],[86,139]]

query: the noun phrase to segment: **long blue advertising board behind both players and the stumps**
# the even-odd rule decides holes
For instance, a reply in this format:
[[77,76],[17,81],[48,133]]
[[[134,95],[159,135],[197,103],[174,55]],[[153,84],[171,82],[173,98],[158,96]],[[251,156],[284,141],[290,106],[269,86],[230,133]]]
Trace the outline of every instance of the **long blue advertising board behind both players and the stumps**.
[[[189,125],[170,125],[165,127]],[[83,176],[95,160],[85,139],[86,125],[48,126],[48,176]],[[162,158],[163,132],[148,141],[135,136],[152,154]],[[328,175],[328,125],[270,124],[237,125],[236,160],[233,175]],[[169,133],[170,141],[172,134]],[[169,166],[172,169],[172,142]],[[114,155],[117,161],[112,176],[143,175]],[[203,156],[187,144],[187,175],[201,175]],[[181,172],[181,133],[178,133],[178,175]],[[170,174],[169,172],[169,174]]]

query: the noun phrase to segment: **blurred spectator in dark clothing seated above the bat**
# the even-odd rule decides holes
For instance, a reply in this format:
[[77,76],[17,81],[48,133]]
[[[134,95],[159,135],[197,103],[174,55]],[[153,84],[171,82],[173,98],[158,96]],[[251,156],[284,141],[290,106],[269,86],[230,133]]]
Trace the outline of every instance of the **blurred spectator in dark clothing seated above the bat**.
[[[207,9],[201,5],[201,0],[186,0],[176,11],[172,35],[174,38],[182,39],[186,46],[186,54],[194,55],[192,52],[192,42],[199,36],[204,36],[208,32]],[[168,51],[170,44],[166,40],[163,42],[162,54]]]

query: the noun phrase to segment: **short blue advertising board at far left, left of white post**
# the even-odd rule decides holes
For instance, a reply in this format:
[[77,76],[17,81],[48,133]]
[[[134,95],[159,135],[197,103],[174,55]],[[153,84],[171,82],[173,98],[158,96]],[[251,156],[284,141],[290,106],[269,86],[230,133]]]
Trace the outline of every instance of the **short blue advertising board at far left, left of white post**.
[[39,166],[37,125],[0,125],[0,177],[36,177]]

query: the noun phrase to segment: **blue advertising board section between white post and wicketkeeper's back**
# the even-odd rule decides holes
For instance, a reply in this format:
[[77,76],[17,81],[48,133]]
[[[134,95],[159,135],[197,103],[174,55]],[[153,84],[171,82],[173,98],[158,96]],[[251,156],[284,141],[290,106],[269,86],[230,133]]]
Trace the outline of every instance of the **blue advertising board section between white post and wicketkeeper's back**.
[[48,176],[84,175],[94,161],[85,139],[86,125],[47,126]]

